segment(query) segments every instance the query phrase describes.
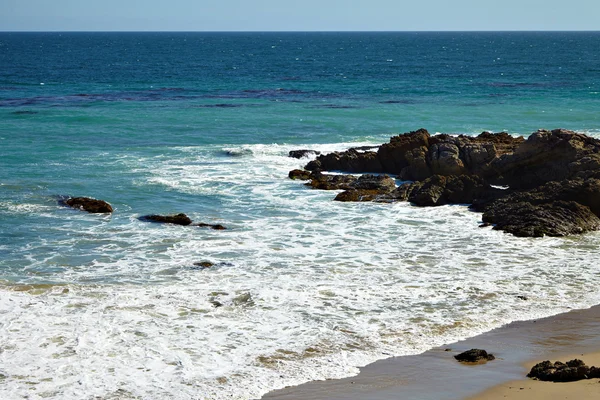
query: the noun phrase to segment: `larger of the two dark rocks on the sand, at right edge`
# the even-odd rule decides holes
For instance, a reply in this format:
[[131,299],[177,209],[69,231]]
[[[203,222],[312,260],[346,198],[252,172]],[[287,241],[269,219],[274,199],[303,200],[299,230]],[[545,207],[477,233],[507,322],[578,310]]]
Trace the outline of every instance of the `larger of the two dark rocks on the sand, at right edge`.
[[581,379],[600,378],[600,368],[588,367],[581,360],[571,360],[566,363],[543,361],[531,368],[527,377],[540,381],[573,382]]

